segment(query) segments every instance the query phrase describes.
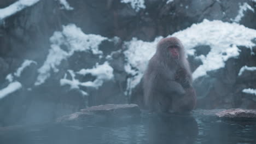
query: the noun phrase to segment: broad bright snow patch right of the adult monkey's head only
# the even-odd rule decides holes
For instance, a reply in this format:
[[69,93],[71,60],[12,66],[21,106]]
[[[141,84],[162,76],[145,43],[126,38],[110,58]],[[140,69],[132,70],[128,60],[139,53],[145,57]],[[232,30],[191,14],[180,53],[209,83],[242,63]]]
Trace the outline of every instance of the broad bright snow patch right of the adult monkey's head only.
[[256,38],[256,30],[237,23],[203,20],[172,36],[181,39],[188,55],[194,55],[195,46],[211,47],[205,58],[197,57],[203,63],[193,73],[193,78],[197,79],[206,75],[207,71],[223,68],[225,61],[230,57],[237,57],[239,55],[237,46],[246,46],[252,50],[255,44],[251,40]]

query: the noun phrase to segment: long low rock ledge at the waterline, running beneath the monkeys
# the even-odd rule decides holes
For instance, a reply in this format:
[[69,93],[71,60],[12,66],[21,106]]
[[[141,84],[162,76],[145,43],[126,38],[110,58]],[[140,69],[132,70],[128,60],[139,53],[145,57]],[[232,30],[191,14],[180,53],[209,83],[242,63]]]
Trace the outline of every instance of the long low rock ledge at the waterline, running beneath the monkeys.
[[[256,110],[249,109],[213,109],[213,110],[194,110],[190,114],[173,114],[173,113],[149,113],[147,110],[139,110],[136,104],[107,104],[88,107],[71,115],[62,116],[56,119],[57,123],[71,124],[71,125],[95,125],[100,123],[123,123],[128,122],[132,118],[139,119],[159,117],[169,119],[200,117],[204,121],[218,121],[219,118],[228,118],[231,121],[239,122],[241,119],[256,119]],[[247,121],[245,121],[247,122]]]

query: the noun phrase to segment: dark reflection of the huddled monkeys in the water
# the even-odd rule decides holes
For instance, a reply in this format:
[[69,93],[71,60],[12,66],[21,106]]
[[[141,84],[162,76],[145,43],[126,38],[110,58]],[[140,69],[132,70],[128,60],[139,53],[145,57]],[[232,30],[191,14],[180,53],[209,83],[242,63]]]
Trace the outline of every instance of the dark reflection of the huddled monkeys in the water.
[[159,115],[149,120],[149,143],[194,143],[197,134],[192,116]]

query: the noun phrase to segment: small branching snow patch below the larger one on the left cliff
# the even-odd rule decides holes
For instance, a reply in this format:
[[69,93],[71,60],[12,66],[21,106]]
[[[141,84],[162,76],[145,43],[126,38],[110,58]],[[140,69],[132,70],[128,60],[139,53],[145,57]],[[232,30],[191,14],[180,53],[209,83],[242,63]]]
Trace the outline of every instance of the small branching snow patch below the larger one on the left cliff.
[[[96,64],[95,68],[92,69],[82,69],[76,73],[72,70],[68,70],[69,74],[72,77],[72,80],[68,80],[67,76],[60,80],[60,85],[69,85],[71,89],[79,89],[79,86],[83,87],[94,87],[98,88],[102,86],[104,80],[110,80],[113,79],[113,68],[110,67],[108,62],[103,63],[102,65]],[[79,75],[86,75],[91,74],[92,76],[96,76],[96,79],[94,81],[86,81],[86,82],[80,82],[79,80],[75,79],[75,74]],[[86,92],[82,91],[85,95],[87,95]]]

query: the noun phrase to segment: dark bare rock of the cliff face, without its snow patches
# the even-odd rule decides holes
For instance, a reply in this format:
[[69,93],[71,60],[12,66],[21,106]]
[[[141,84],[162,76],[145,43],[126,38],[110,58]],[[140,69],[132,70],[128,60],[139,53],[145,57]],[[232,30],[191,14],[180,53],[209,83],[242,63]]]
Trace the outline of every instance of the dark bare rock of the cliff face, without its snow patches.
[[[3,0],[0,8],[13,2],[15,1]],[[240,23],[256,29],[256,3],[239,0],[181,0],[168,4],[166,0],[148,0],[145,1],[146,9],[138,12],[119,0],[68,0],[74,10],[61,9],[58,1],[42,0],[7,17],[0,25],[0,87],[8,85],[5,77],[20,67],[24,59],[31,59],[37,64],[26,68],[21,77],[17,78],[22,82],[22,89],[0,100],[0,125],[47,122],[86,106],[127,103],[129,97],[124,92],[129,75],[124,70],[123,41],[129,41],[133,37],[152,41],[157,36],[166,37],[203,19],[231,22],[238,14],[239,4],[244,2],[251,5],[255,13],[247,10]],[[100,45],[100,50],[104,53],[102,59],[90,52],[75,53],[62,61],[58,73],[52,73],[42,86],[34,87],[37,69],[42,66],[50,49],[49,38],[68,23],[74,23],[86,34],[120,39],[118,43],[103,41]],[[196,50],[198,55],[206,55],[208,51],[207,46]],[[199,98],[197,107],[213,109],[243,106],[256,109],[255,99],[241,93],[243,88],[256,88],[255,72],[237,76],[243,65],[256,66],[256,58],[248,50],[241,47],[238,59],[229,59],[225,68],[211,71],[194,82]],[[113,53],[112,58],[105,58],[110,53]],[[189,60],[192,70],[201,64],[193,57],[189,57]],[[90,93],[88,97],[70,90],[69,87],[60,86],[59,81],[68,69],[92,68],[96,62],[102,64],[104,61],[108,61],[113,67],[114,80],[104,82],[99,89],[86,88]],[[94,77],[79,77],[79,80],[91,79]]]

